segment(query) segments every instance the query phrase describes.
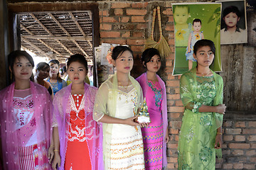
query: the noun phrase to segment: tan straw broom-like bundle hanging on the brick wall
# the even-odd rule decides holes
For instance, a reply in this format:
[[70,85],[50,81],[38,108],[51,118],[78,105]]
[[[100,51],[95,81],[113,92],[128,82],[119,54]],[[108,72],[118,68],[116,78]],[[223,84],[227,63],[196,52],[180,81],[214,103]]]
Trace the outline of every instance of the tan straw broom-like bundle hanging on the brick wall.
[[156,8],[154,8],[154,12],[153,12],[153,18],[152,18],[152,27],[151,27],[151,36],[146,40],[145,46],[144,46],[144,50],[148,49],[148,48],[156,48],[157,50],[159,50],[159,53],[161,55],[161,57],[168,57],[171,54],[171,49],[169,47],[168,42],[166,42],[163,33],[162,33],[162,29],[161,29],[161,14],[160,14],[160,7],[157,6],[157,16],[158,16],[158,21],[159,21],[159,32],[160,32],[160,38],[159,41],[156,42],[154,40],[154,22],[156,20]]

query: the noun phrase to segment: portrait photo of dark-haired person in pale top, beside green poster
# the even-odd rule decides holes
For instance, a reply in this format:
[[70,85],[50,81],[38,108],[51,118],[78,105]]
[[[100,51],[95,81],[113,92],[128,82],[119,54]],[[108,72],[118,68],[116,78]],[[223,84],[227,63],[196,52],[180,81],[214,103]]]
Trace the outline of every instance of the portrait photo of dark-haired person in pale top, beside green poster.
[[222,3],[220,44],[247,42],[246,5],[244,0]]

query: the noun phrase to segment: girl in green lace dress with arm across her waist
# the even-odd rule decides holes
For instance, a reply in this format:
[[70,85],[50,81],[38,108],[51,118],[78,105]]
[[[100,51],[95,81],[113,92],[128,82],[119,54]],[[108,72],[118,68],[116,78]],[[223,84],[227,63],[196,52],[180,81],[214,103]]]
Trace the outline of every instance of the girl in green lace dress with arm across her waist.
[[223,79],[210,70],[215,55],[211,40],[198,40],[193,57],[197,67],[181,76],[183,113],[178,140],[178,169],[213,170],[221,157]]

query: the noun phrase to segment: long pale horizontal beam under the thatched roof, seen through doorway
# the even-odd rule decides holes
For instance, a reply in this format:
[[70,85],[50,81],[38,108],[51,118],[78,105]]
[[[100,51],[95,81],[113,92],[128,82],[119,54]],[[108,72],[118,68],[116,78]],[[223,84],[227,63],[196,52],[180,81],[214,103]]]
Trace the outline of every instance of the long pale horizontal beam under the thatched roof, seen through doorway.
[[[27,30],[26,30],[27,31]],[[28,30],[29,31],[29,30]],[[27,32],[28,32],[27,31]],[[88,40],[85,39],[85,37],[82,36],[78,36],[78,37],[69,37],[69,36],[65,36],[65,37],[60,37],[60,36],[49,36],[49,35],[22,35],[23,38],[29,38],[29,39],[41,39],[41,40]],[[91,38],[89,40],[92,40]]]

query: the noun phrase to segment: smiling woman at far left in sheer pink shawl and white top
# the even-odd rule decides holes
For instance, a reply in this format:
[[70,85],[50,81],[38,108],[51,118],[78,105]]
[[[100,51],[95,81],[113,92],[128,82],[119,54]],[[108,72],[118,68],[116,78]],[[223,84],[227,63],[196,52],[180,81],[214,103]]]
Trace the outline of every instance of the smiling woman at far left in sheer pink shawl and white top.
[[50,169],[50,94],[45,87],[31,81],[34,62],[27,52],[11,52],[8,64],[14,82],[0,91],[4,169]]

